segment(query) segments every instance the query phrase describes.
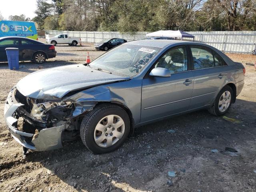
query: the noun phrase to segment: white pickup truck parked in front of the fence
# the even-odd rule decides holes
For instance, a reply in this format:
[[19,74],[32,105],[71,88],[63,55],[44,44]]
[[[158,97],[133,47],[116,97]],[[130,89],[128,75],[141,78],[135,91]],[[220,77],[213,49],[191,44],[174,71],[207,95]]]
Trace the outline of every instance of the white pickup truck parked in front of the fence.
[[81,43],[81,38],[73,38],[69,37],[67,34],[60,34],[54,37],[46,38],[45,42],[53,44],[54,46],[56,44],[69,44],[76,46],[78,43]]

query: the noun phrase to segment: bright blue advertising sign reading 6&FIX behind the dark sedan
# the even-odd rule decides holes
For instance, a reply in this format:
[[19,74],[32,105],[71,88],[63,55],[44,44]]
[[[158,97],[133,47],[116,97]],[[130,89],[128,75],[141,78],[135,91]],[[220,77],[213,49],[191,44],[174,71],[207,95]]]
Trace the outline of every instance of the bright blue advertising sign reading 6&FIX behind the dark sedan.
[[20,36],[38,40],[34,22],[0,21],[0,37]]

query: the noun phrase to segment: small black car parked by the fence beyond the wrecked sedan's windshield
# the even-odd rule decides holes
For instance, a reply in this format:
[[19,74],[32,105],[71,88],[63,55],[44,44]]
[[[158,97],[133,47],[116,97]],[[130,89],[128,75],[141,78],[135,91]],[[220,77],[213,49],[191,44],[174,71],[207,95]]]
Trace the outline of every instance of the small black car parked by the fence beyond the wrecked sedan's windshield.
[[94,47],[96,49],[101,49],[101,50],[107,51],[107,50],[112,49],[115,46],[118,46],[125,42],[127,42],[127,41],[124,39],[120,39],[120,38],[104,39],[101,42],[95,43]]

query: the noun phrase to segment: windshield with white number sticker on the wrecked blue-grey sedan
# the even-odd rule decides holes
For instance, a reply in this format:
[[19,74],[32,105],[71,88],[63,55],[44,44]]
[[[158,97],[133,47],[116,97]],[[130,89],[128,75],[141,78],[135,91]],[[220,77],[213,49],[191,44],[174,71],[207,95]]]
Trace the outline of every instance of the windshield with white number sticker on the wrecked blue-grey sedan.
[[91,62],[90,67],[120,76],[135,76],[159,50],[158,47],[124,44]]

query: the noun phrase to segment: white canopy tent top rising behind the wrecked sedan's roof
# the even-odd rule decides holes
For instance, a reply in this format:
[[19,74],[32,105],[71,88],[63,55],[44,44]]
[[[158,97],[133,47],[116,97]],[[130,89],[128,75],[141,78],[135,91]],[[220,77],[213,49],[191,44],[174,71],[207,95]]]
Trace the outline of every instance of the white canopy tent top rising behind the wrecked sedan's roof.
[[190,35],[184,31],[173,31],[173,30],[160,30],[160,31],[155,31],[152,33],[146,34],[146,37],[174,37],[174,38],[195,38],[195,36]]

